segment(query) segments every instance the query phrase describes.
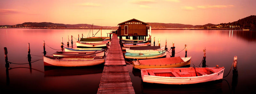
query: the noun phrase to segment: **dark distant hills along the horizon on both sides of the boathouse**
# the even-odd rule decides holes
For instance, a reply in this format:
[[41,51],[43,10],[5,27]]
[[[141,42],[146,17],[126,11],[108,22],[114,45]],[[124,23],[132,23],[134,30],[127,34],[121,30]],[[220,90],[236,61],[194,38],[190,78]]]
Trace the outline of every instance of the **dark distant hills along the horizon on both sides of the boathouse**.
[[[165,23],[148,23],[152,28],[233,28],[233,29],[256,29],[256,16],[252,15],[239,19],[232,23],[221,23],[221,24],[205,24],[205,25],[189,25],[189,24],[165,24]],[[0,25],[1,28],[91,28],[92,24],[54,24],[49,22],[32,23],[26,22],[23,24],[16,25]],[[118,28],[118,26],[97,26],[93,25],[93,28]]]

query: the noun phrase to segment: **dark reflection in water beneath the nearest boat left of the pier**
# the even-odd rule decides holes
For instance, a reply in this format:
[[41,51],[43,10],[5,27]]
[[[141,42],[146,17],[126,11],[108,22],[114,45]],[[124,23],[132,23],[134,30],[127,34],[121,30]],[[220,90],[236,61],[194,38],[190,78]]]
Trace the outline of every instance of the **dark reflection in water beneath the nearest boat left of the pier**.
[[86,67],[52,67],[44,66],[44,77],[73,76],[84,74],[102,73],[104,64]]

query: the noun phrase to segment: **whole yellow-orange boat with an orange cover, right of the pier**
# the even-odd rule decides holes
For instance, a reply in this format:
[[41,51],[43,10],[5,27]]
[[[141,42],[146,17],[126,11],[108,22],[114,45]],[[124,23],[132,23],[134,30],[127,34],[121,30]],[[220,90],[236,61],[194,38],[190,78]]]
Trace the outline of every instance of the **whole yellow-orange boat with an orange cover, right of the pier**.
[[167,57],[132,61],[137,69],[177,68],[190,64],[191,57]]

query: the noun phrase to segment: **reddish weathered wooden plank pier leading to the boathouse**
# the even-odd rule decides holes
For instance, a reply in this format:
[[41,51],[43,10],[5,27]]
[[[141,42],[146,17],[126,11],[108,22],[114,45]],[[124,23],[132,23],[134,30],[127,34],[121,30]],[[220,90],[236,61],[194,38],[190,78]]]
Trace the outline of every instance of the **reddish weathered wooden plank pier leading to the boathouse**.
[[135,94],[121,46],[113,34],[97,94]]

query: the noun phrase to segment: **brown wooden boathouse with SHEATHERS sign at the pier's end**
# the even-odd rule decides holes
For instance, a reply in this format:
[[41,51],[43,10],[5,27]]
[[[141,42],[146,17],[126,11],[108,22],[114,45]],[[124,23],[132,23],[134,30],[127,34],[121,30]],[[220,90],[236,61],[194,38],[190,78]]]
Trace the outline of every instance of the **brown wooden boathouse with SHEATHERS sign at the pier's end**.
[[144,37],[148,36],[148,23],[131,19],[118,25],[116,34],[119,38],[126,37],[128,39],[132,37],[132,39],[144,39]]

